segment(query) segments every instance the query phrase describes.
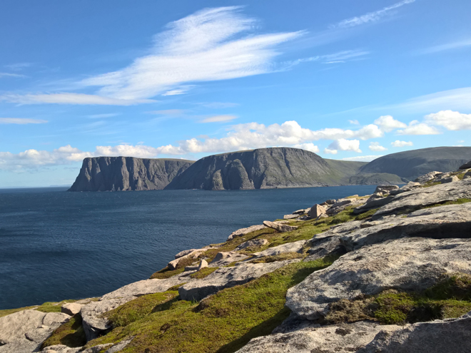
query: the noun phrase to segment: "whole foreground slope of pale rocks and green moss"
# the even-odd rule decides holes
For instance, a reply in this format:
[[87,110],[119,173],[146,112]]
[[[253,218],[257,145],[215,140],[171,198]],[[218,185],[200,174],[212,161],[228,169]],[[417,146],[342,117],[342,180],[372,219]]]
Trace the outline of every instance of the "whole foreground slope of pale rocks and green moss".
[[184,250],[149,280],[46,304],[0,311],[0,352],[471,352],[471,164],[301,208]]

